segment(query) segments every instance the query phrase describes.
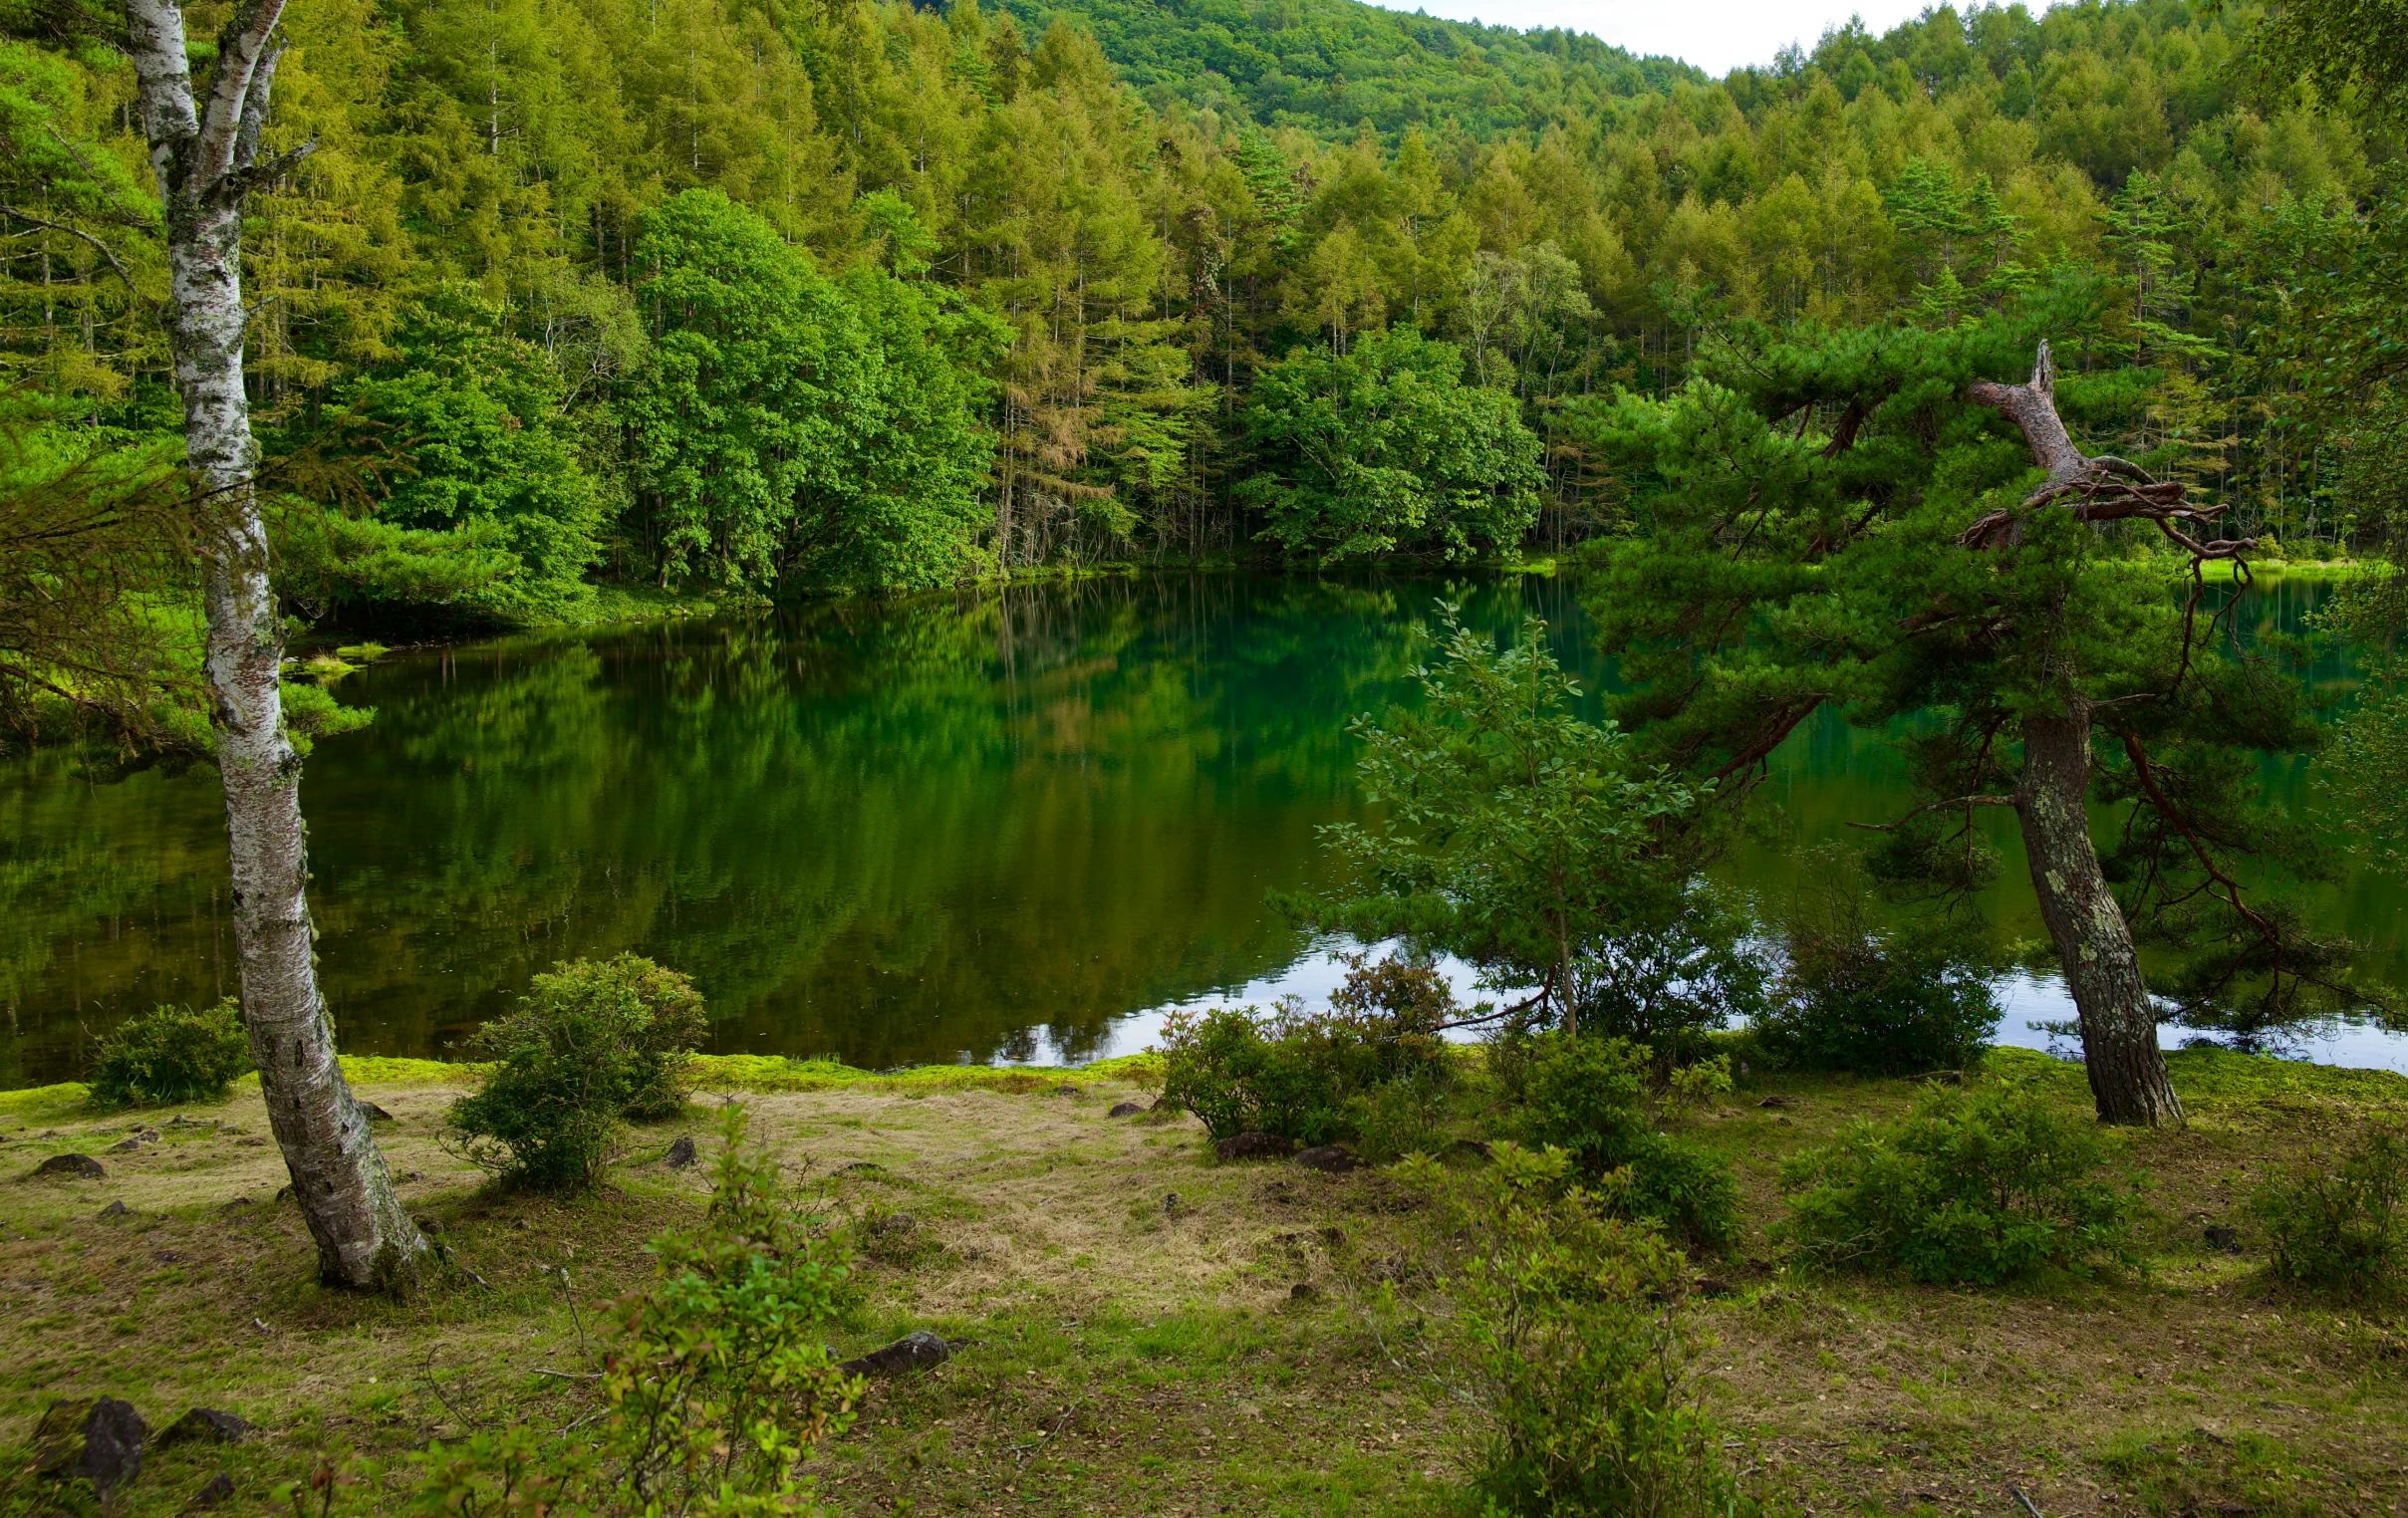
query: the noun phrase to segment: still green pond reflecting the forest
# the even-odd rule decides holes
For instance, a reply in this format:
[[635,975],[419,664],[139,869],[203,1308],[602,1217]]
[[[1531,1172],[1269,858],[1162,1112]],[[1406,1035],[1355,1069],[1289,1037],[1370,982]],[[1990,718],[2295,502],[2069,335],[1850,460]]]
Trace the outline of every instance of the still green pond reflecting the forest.
[[[340,683],[376,722],[320,743],[301,791],[342,1046],[441,1056],[554,960],[619,950],[696,977],[718,1051],[874,1068],[1076,1061],[1144,1046],[1168,1006],[1312,996],[1329,945],[1264,890],[1327,878],[1315,825],[1363,811],[1346,719],[1406,693],[1440,594],[1500,633],[1544,616],[1597,688],[1548,577],[1161,575],[393,654]],[[2319,594],[2261,585],[2239,616],[2295,630]],[[2312,804],[2304,765],[2268,775]],[[1825,714],[1758,804],[1724,871],[1775,895],[1796,844],[1895,816],[1905,784],[1881,734]],[[92,784],[34,755],[0,765],[0,1085],[234,991],[214,772]],[[2037,938],[1999,837],[1987,907]],[[2403,979],[2391,880],[2314,900]],[[2068,1015],[2044,977],[2008,1003],[2018,1042]],[[2372,1030],[2302,1051],[2401,1063]]]

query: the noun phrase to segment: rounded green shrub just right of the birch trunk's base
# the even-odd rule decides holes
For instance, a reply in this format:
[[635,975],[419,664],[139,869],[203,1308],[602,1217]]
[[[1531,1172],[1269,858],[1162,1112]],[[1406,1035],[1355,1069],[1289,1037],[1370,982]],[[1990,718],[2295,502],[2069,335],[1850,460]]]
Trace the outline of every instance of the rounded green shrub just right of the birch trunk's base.
[[453,1145],[513,1186],[592,1186],[626,1119],[684,1109],[706,1030],[703,998],[674,969],[638,955],[556,965],[477,1030],[470,1046],[496,1066],[453,1104]]

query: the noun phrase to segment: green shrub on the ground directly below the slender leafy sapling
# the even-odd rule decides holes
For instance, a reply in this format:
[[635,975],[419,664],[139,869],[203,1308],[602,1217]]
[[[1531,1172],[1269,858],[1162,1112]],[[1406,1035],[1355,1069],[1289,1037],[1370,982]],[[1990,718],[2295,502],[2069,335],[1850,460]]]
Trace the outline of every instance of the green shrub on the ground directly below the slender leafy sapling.
[[1628,1172],[1618,1191],[1623,1203],[1698,1244],[1724,1246],[1739,1234],[1731,1169],[1662,1133],[1649,1114],[1654,1056],[1645,1044],[1563,1032],[1507,1042],[1519,1044],[1517,1107],[1527,1140],[1560,1148],[1599,1184],[1611,1172]]

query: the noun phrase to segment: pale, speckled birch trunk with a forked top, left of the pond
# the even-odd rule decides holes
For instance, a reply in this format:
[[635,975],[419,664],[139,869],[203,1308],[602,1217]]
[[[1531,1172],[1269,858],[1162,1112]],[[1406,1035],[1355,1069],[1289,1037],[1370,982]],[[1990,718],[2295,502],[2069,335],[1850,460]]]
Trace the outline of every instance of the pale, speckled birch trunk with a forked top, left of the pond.
[[311,953],[301,758],[284,736],[284,630],[267,585],[267,527],[243,395],[243,202],[308,147],[260,156],[284,0],[241,0],[195,96],[178,0],[125,0],[142,132],[166,221],[164,318],[183,392],[185,467],[200,503],[209,616],[209,722],[226,784],[243,1025],[267,1123],[327,1282],[409,1292],[426,1239],[393,1196],[385,1157],[335,1061]]

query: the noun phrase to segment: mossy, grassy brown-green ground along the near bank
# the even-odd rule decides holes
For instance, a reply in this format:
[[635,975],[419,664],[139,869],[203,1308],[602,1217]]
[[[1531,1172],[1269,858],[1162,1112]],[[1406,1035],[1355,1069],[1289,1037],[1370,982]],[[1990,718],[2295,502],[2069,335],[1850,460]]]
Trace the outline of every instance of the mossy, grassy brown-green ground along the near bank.
[[[1994,1068],[2085,1104],[2076,1068],[2015,1051]],[[1377,1309],[1348,1268],[1382,1258],[1413,1198],[1377,1172],[1216,1164],[1187,1119],[1108,1119],[1137,1095],[1112,1078],[1127,1073],[706,1071],[706,1085],[804,1087],[744,1097],[797,1186],[915,1220],[877,1234],[831,1342],[857,1352],[922,1326],[963,1340],[946,1366],[872,1388],[814,1460],[828,1504],[1442,1506],[1474,1419],[1397,1352],[1411,1301]],[[275,1200],[255,1095],[185,1126],[92,1114],[72,1087],[0,1097],[0,1448],[22,1448],[60,1395],[120,1395],[154,1427],[229,1407],[265,1436],[161,1451],[118,1506],[173,1513],[229,1470],[236,1511],[258,1511],[332,1458],[356,1477],[337,1511],[390,1511],[397,1458],[426,1439],[583,1415],[595,1304],[641,1282],[643,1239],[698,1208],[703,1167],[662,1155],[679,1133],[708,1152],[708,1111],[638,1133],[604,1193],[556,1203],[494,1193],[436,1143],[458,1071],[356,1063],[354,1078],[397,1119],[378,1138],[402,1196],[484,1287],[441,1277],[407,1306],[320,1289],[299,1215]],[[2013,1289],[1811,1277],[1765,1244],[1780,1160],[1902,1111],[1912,1083],[1777,1078],[1698,1116],[1748,1196],[1743,1244],[1698,1263],[1727,1292],[1695,1311],[1700,1388],[1751,1487],[1808,1513],[2020,1513],[2013,1489],[2049,1518],[2401,1511],[2401,1316],[2271,1287],[2239,1200],[2304,1148],[2408,1119],[2408,1080],[2218,1054],[2177,1056],[2174,1080],[2191,1123],[2117,1138],[2119,1162],[2153,1176],[2148,1270]],[[108,1152],[137,1123],[161,1138]],[[60,1150],[96,1152],[108,1176],[17,1179]],[[104,1220],[113,1200],[130,1215]],[[2206,1244],[2223,1222],[2239,1256]],[[0,1489],[10,1508],[55,1499]]]

